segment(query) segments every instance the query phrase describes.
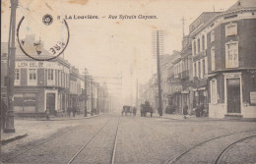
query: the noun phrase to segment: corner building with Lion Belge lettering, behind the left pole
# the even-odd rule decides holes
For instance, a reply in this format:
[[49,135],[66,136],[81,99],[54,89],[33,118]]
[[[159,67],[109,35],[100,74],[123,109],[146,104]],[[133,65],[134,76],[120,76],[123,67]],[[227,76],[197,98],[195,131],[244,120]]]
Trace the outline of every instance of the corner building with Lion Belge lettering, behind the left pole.
[[[15,62],[14,112],[24,117],[43,117],[46,108],[62,115],[68,107],[70,64],[58,57],[35,61],[17,45]],[[7,89],[7,43],[1,43],[1,97]],[[49,55],[45,51],[45,54]]]

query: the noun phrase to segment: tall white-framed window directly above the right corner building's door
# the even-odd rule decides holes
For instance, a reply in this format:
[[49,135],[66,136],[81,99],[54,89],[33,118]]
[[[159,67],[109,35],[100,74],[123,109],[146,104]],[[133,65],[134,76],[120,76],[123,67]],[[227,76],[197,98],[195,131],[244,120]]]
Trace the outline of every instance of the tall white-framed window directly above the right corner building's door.
[[238,43],[231,41],[225,44],[225,68],[238,67]]

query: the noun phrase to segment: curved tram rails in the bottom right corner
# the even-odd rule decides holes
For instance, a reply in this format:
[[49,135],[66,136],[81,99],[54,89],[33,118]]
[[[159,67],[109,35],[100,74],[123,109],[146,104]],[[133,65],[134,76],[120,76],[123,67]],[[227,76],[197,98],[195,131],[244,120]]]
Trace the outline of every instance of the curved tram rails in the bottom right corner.
[[[191,151],[192,149],[195,149],[196,147],[199,147],[200,145],[203,145],[203,144],[205,144],[205,143],[207,143],[207,142],[210,142],[210,141],[212,141],[212,140],[216,140],[216,139],[223,138],[223,137],[230,137],[230,136],[234,136],[234,135],[238,135],[238,134],[242,134],[242,133],[255,132],[255,131],[256,131],[256,130],[247,130],[247,131],[241,131],[241,132],[238,132],[238,133],[232,133],[232,134],[227,134],[227,135],[223,135],[223,136],[219,136],[219,137],[212,137],[212,138],[210,138],[210,139],[206,139],[206,140],[204,140],[204,141],[202,141],[202,142],[199,142],[199,143],[197,143],[197,144],[195,144],[195,145],[193,145],[193,146],[187,148],[187,149],[184,150],[183,152],[179,153],[179,154],[176,155],[172,160],[168,161],[167,164],[172,164],[172,163],[177,162],[181,157],[185,156],[185,155],[186,155],[189,151]],[[256,137],[256,135],[253,135],[252,137]],[[243,137],[242,139],[239,139],[239,140],[244,140],[244,139],[246,139],[246,138],[247,138],[247,137]],[[235,143],[238,142],[239,140],[237,140],[237,141],[231,143],[230,146],[231,146],[232,144],[235,144]],[[229,145],[228,145],[227,147],[229,147]],[[223,150],[223,151],[225,152],[225,150]],[[218,156],[222,156],[222,154],[224,153],[223,151],[222,151]],[[218,159],[218,157],[216,158],[216,160],[217,160],[217,159]],[[216,160],[215,160],[215,161],[216,161]],[[215,164],[217,164],[217,163],[215,163]]]

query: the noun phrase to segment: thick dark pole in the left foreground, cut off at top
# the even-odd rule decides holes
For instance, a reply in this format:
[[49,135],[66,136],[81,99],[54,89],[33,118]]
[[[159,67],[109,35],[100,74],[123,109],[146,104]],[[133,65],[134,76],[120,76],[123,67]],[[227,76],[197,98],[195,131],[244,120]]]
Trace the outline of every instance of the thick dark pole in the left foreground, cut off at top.
[[[14,74],[15,74],[15,30],[16,30],[16,9],[18,6],[18,0],[11,0],[11,20],[10,20],[10,29],[11,31],[11,48],[8,63],[9,70],[9,84],[7,88],[8,92],[8,110],[7,110],[7,120],[6,127],[4,129],[5,133],[15,133],[14,128]],[[10,35],[9,35],[10,36]]]

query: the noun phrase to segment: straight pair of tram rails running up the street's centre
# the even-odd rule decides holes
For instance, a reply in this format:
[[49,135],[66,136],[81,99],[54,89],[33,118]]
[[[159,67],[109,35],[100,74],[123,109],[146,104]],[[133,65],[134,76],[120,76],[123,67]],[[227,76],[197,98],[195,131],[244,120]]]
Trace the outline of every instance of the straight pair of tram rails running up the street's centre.
[[[109,121],[109,120],[108,120]],[[108,123],[107,121],[107,123]],[[91,141],[103,130],[103,128],[107,125],[107,123],[103,124],[97,131],[96,133],[90,137],[85,144],[83,144],[78,151],[72,156],[72,158],[67,162],[67,164],[73,163],[76,158],[82,153],[82,151],[85,151],[85,148],[91,143]],[[113,143],[113,148],[111,151],[111,164],[114,164],[115,162],[115,153],[116,153],[116,147],[117,147],[117,138],[118,138],[118,131],[119,131],[119,125],[120,125],[120,117],[118,117],[118,123],[117,123],[117,128],[115,131],[115,137],[114,137],[114,143]]]

